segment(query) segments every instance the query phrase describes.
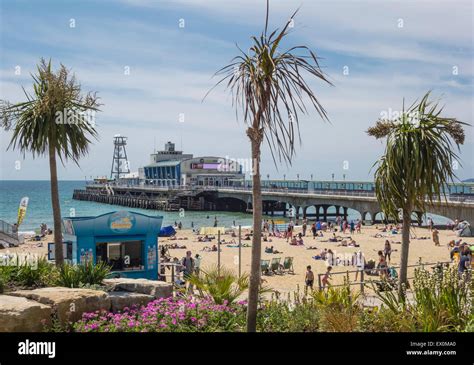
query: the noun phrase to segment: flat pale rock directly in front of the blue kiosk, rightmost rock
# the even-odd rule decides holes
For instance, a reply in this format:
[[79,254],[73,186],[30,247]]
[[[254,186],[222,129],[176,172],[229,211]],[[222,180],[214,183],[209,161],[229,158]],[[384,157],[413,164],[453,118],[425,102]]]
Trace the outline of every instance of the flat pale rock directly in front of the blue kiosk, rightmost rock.
[[155,298],[168,298],[173,295],[171,283],[147,279],[105,279],[103,283],[110,291],[128,291],[152,295]]

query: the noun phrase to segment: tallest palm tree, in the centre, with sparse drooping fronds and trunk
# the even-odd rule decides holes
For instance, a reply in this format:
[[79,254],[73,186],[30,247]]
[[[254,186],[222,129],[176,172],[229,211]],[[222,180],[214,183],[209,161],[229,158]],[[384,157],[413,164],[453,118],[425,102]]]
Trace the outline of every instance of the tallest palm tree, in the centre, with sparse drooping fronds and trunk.
[[[233,97],[232,105],[241,111],[252,151],[252,207],[253,238],[250,272],[247,330],[256,331],[258,292],[260,286],[260,257],[262,230],[262,196],[260,186],[260,155],[262,142],[269,145],[273,161],[291,165],[295,152],[295,138],[301,142],[299,116],[306,114],[305,102],[316,109],[323,120],[326,111],[303,78],[309,76],[331,84],[321,70],[318,57],[306,46],[293,46],[281,51],[288,35],[295,11],[281,31],[268,33],[269,2],[265,28],[260,37],[251,37],[249,53],[240,54],[229,65],[217,71],[221,79],[214,86],[226,82]],[[211,89],[212,90],[212,89]],[[305,101],[303,99],[306,99]]]

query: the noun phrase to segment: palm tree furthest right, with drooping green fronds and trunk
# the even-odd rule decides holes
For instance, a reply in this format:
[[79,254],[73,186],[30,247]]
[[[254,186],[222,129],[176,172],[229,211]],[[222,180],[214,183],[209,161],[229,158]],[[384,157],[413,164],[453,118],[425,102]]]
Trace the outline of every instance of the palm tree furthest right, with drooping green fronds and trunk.
[[387,219],[403,222],[400,259],[399,293],[404,296],[407,283],[408,250],[411,216],[442,197],[444,187],[456,177],[453,162],[465,135],[456,118],[441,117],[443,110],[429,100],[430,92],[407,109],[403,106],[398,118],[379,120],[367,133],[377,139],[386,138],[383,156],[374,164],[375,192]]

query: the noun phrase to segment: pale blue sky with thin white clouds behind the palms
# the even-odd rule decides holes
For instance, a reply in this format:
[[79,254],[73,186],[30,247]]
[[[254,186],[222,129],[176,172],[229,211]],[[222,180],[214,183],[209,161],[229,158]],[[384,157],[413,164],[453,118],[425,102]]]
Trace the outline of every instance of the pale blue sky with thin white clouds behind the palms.
[[[307,76],[330,123],[309,109],[292,165],[263,148],[270,178],[371,180],[384,144],[366,134],[384,113],[432,90],[443,114],[473,123],[472,1],[270,1],[270,28],[300,7],[282,49],[307,45],[329,86]],[[167,141],[195,156],[250,158],[245,125],[224,87],[206,97],[213,74],[265,23],[264,0],[0,0],[0,99],[25,100],[41,57],[66,65],[84,92],[103,103],[99,140],[79,166],[59,166],[61,180],[110,174],[113,136],[128,137],[132,171]],[[47,158],[8,149],[0,131],[0,179],[49,178]],[[474,177],[474,133],[466,129],[460,179]]]

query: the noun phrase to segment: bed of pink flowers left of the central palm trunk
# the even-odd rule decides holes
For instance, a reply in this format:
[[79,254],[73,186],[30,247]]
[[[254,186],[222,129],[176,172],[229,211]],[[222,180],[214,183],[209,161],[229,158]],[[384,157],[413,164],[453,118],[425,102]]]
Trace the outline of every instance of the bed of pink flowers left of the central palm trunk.
[[215,304],[212,299],[158,299],[122,313],[84,313],[76,332],[216,332],[245,328],[245,302]]

